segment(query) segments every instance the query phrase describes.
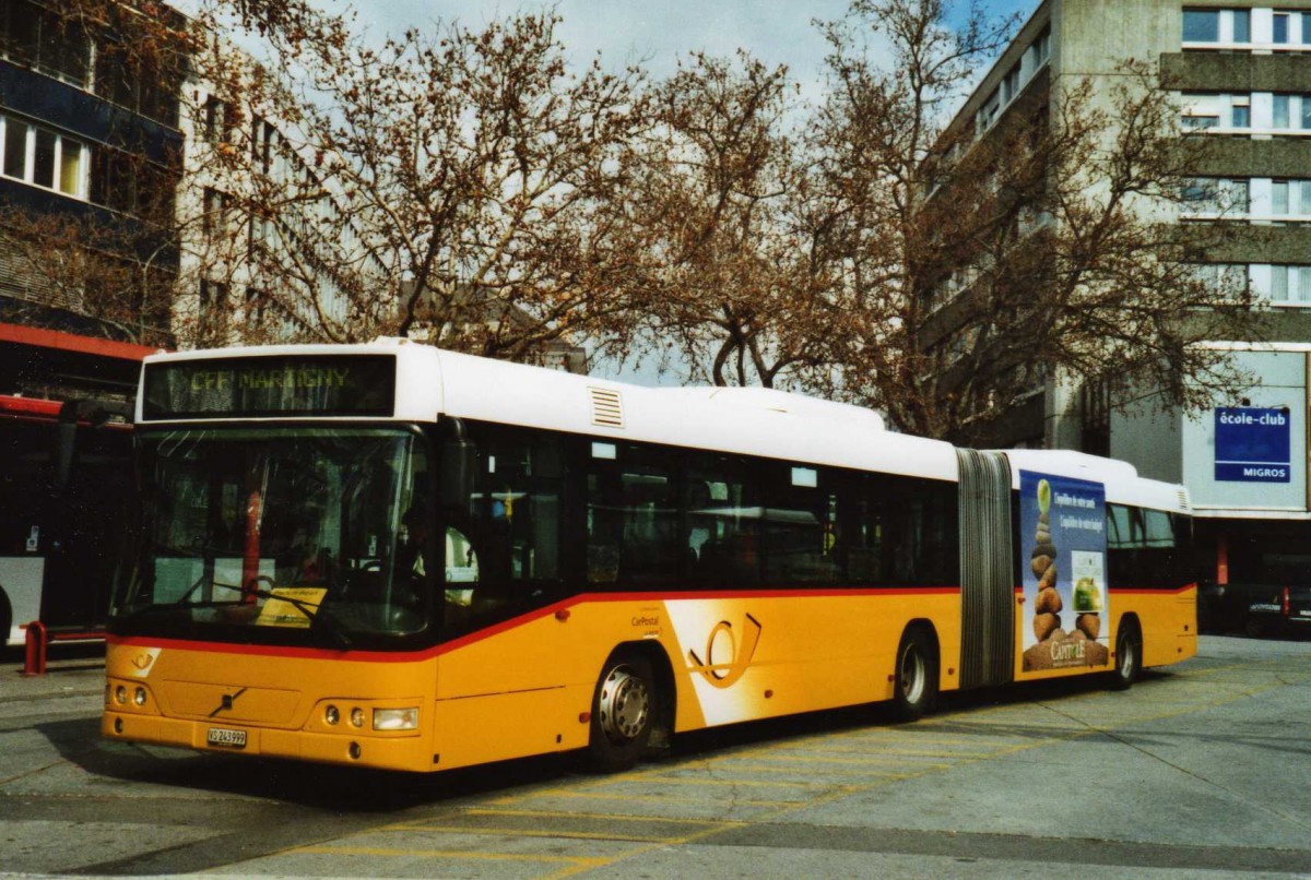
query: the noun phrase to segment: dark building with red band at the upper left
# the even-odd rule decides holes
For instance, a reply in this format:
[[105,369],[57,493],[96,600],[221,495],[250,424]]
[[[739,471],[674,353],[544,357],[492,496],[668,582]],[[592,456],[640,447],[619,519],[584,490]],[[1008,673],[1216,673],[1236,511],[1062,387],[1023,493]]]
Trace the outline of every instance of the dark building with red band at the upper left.
[[[52,9],[0,0],[0,393],[122,397],[134,358],[170,339],[166,301],[151,293],[170,284],[177,253],[144,215],[170,211],[177,189],[181,73],[165,62],[139,75],[114,51],[121,34]],[[59,242],[41,237],[58,227],[42,223],[106,230],[97,255],[135,285],[108,302],[92,276],[56,265],[79,254],[52,258]]]

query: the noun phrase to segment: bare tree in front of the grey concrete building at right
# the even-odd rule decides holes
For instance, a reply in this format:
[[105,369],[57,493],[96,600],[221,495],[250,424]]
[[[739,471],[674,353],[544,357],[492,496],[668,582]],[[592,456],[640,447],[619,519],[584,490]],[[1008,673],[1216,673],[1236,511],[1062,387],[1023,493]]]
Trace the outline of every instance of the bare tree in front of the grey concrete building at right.
[[[894,47],[876,69],[857,35]],[[857,0],[829,28],[832,96],[815,126],[840,206],[856,308],[851,395],[898,427],[988,441],[988,420],[1044,377],[1192,405],[1238,376],[1196,343],[1249,334],[1244,291],[1200,276],[1223,224],[1175,223],[1193,149],[1151,71],[1032,89],[992,130],[948,127],[944,102],[1006,34],[941,0]],[[1100,90],[1099,90],[1100,89]]]

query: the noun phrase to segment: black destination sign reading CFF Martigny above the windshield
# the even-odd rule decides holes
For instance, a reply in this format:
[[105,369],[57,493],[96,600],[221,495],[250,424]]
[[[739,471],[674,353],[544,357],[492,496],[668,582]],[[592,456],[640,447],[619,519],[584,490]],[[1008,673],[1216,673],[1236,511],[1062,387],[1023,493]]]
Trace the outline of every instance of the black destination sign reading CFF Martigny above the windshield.
[[147,364],[146,419],[392,415],[389,355],[286,355]]

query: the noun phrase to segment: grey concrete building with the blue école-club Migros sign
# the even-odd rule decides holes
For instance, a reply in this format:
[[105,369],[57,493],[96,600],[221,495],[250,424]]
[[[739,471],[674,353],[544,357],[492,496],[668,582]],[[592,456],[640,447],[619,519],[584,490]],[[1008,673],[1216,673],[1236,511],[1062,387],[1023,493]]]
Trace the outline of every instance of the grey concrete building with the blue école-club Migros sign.
[[[1125,59],[1159,65],[1180,127],[1206,138],[1181,221],[1239,234],[1198,271],[1248,285],[1260,342],[1211,343],[1255,380],[1201,412],[1110,406],[1078,377],[1040,377],[999,426],[1000,445],[1125,458],[1183,482],[1203,583],[1311,583],[1311,0],[1045,0],[957,117],[981,132],[1062,77],[1109,88]],[[1272,580],[1273,579],[1273,580]]]

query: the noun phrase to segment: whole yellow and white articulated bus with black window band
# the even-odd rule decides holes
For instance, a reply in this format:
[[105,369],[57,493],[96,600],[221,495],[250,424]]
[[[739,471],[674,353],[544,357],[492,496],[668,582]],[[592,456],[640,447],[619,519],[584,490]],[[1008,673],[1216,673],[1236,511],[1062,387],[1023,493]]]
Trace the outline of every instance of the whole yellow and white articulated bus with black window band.
[[379,339],[157,355],[104,733],[446,770],[1196,652],[1177,486]]

